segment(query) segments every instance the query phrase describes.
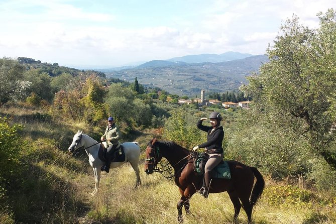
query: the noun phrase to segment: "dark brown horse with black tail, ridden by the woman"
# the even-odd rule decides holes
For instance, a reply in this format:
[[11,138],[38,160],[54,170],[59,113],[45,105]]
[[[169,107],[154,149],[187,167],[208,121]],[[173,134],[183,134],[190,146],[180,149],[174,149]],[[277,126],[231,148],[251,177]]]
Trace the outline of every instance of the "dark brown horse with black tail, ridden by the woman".
[[[146,148],[145,172],[158,172],[157,164],[164,157],[174,169],[175,183],[179,187],[181,199],[177,203],[178,220],[183,221],[182,207],[190,213],[190,197],[202,187],[203,177],[193,169],[193,157],[189,150],[174,142],[158,141],[153,138]],[[248,223],[252,223],[252,209],[261,197],[265,181],[261,173],[255,168],[246,166],[237,161],[228,161],[231,170],[231,179],[214,178],[211,180],[209,193],[227,191],[235,207],[235,222],[243,205],[247,214]],[[257,179],[254,184],[255,178]]]

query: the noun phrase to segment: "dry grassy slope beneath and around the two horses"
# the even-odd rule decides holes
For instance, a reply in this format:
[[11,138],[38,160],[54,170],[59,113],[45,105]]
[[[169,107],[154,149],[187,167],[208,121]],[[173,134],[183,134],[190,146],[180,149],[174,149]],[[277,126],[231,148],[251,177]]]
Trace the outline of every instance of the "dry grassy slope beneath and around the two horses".
[[[136,176],[130,164],[102,173],[100,192],[90,196],[94,181],[87,155],[71,154],[67,148],[78,129],[95,138],[102,130],[54,121],[43,109],[24,105],[3,106],[0,116],[23,124],[20,135],[29,142],[22,152],[22,176],[1,197],[0,223],[178,223],[177,186],[158,173],[141,172],[142,186],[134,189]],[[130,137],[141,145],[141,171],[154,133],[145,130]],[[265,178],[266,189],[253,213],[255,223],[336,222],[335,195],[310,189],[300,178]],[[208,199],[196,194],[190,203],[192,214],[183,211],[184,223],[232,223],[234,208],[227,193],[210,194]],[[247,221],[243,209],[239,219]]]

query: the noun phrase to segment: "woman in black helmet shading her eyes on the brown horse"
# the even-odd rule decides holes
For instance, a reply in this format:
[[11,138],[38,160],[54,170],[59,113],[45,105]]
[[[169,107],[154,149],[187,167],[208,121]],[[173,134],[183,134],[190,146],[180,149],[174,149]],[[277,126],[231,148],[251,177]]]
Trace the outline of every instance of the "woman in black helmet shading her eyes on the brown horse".
[[205,164],[204,170],[204,180],[205,188],[201,188],[198,192],[201,193],[205,198],[208,196],[208,190],[210,186],[210,171],[217,166],[220,161],[222,161],[224,152],[222,148],[222,141],[224,138],[223,127],[220,126],[222,120],[221,115],[218,112],[212,112],[209,116],[210,125],[204,126],[202,122],[207,118],[201,118],[197,121],[197,128],[207,132],[207,141],[195,146],[192,151],[195,151],[199,148],[204,148],[205,153],[209,155],[209,159]]

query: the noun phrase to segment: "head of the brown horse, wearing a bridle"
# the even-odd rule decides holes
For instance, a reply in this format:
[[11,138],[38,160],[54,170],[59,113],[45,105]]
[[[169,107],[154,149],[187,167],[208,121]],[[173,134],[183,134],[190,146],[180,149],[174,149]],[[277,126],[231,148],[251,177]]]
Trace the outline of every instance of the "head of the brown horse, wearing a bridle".
[[153,138],[146,148],[146,160],[145,160],[145,172],[147,174],[152,174],[154,168],[162,159],[159,146],[157,144],[157,138]]

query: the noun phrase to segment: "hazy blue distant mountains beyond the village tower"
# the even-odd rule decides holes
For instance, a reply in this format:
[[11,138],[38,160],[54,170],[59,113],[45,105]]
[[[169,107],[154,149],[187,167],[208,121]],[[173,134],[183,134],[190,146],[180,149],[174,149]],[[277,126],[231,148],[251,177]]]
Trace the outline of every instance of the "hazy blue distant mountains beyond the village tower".
[[[227,52],[217,56],[218,58],[225,58],[224,55],[226,55],[227,60],[229,55],[243,57],[242,59],[217,63],[186,62],[201,58],[209,60],[209,55],[203,54],[202,57],[201,55],[189,55],[167,61],[154,60],[137,67],[121,70],[99,70],[103,71],[106,77],[119,78],[129,82],[134,82],[137,77],[139,83],[146,87],[160,87],[169,93],[180,96],[200,97],[201,89],[205,89],[207,92],[226,92],[238,89],[242,84],[248,83],[246,76],[258,73],[259,67],[268,62],[267,55],[246,57],[249,54],[238,52]],[[211,54],[211,57],[213,55]],[[181,59],[185,61],[180,61]]]

